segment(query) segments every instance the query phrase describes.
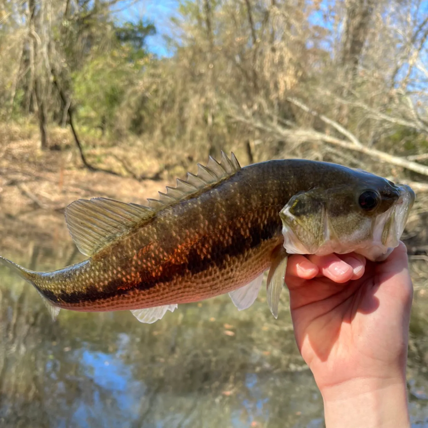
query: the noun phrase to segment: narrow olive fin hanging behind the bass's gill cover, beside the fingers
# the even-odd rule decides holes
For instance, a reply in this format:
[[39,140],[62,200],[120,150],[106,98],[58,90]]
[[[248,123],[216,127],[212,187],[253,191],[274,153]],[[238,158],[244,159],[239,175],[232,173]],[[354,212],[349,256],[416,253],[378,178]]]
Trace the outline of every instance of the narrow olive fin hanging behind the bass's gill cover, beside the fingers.
[[287,253],[285,248],[278,246],[272,252],[270,270],[268,274],[268,305],[270,312],[278,318],[279,296],[284,286],[285,270],[287,269]]

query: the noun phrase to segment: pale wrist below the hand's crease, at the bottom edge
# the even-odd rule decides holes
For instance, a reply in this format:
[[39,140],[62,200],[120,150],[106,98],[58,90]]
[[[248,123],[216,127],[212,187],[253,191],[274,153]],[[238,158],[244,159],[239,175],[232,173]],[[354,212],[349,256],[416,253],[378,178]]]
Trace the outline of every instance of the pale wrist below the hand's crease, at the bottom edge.
[[321,393],[326,428],[410,428],[402,376],[353,379]]

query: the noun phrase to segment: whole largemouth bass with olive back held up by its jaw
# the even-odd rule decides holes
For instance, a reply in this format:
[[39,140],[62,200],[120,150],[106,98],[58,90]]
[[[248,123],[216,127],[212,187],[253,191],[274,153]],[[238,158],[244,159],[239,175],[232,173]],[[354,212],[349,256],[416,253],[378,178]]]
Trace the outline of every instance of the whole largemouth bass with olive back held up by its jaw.
[[159,194],[146,205],[106,198],[68,205],[65,220],[83,262],[50,272],[0,263],[33,284],[53,319],[60,309],[130,310],[143,323],[227,293],[247,309],[269,270],[267,302],[277,318],[288,255],[354,251],[385,259],[416,197],[362,169],[304,159],[241,168],[224,152]]

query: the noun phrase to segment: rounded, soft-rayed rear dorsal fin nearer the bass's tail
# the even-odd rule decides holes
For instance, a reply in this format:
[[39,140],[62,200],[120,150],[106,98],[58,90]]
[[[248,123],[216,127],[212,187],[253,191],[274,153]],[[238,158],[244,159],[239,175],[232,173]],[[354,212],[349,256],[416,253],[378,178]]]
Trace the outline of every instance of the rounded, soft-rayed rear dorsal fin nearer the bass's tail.
[[92,256],[153,214],[143,205],[106,198],[79,199],[65,208],[65,221],[80,252]]

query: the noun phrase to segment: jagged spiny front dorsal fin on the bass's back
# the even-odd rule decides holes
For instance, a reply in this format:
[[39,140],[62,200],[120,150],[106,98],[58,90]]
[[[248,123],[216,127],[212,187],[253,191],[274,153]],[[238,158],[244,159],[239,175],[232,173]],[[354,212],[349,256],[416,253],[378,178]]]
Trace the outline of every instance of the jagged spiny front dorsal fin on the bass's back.
[[221,152],[221,161],[217,162],[214,158],[209,157],[208,165],[202,166],[198,163],[197,175],[187,172],[187,180],[183,181],[177,178],[176,187],[166,186],[166,193],[159,192],[159,199],[148,199],[150,208],[158,211],[167,205],[171,205],[185,197],[212,186],[225,178],[234,175],[241,169],[238,160],[232,153],[230,159],[226,154]]

